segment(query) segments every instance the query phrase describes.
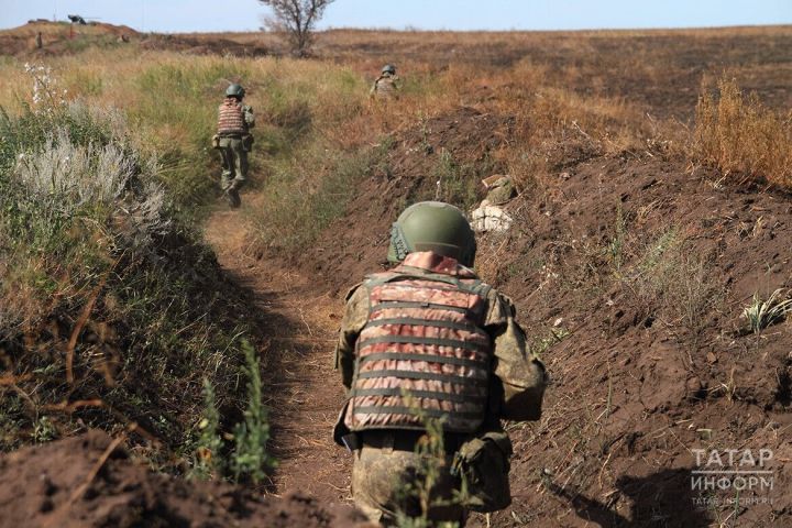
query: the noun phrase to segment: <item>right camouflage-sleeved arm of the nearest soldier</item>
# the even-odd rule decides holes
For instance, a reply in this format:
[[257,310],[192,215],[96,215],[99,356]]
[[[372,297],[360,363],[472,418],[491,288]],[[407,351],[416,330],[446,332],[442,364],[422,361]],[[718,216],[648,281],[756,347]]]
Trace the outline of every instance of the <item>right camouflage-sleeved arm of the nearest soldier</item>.
[[499,414],[509,420],[538,420],[547,375],[544,365],[526,343],[525,332],[515,320],[508,297],[493,292],[487,330],[494,342],[495,377],[501,382]]

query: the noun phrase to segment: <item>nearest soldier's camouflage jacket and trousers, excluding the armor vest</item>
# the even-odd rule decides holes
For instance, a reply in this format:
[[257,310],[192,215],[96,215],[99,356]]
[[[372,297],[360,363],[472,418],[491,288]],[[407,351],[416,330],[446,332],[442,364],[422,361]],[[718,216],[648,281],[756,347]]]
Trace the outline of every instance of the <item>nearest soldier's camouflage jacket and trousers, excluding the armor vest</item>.
[[[459,278],[470,280],[475,278],[473,272],[457,263],[453,258],[443,257],[432,252],[415,252],[407,255],[402,266],[394,270],[394,273],[409,275],[414,280],[416,274],[428,275],[440,274],[447,278]],[[387,283],[385,283],[387,284]],[[444,285],[444,283],[440,283]],[[418,292],[416,289],[416,292]],[[421,294],[418,294],[418,298]],[[465,299],[460,301],[458,299]],[[542,363],[532,354],[528,353],[522,329],[515,320],[515,308],[508,297],[501,295],[495,289],[482,290],[480,297],[454,296],[458,304],[468,302],[473,308],[473,314],[481,319],[476,326],[483,329],[490,338],[492,363],[490,365],[490,400],[487,402],[485,424],[475,436],[486,431],[497,431],[498,418],[514,420],[536,420],[541,415],[541,402],[544,392],[546,375]],[[346,296],[346,309],[341,322],[339,342],[336,349],[336,366],[341,371],[342,382],[346,388],[356,385],[355,363],[356,346],[362,332],[370,321],[372,315],[372,295],[369,287],[355,286]],[[431,311],[431,310],[428,310]],[[436,316],[437,317],[437,316]],[[477,336],[477,333],[476,333]],[[417,364],[414,366],[418,366]],[[350,391],[350,397],[353,397]],[[346,416],[349,408],[353,405],[351,399],[342,409],[339,421],[336,424],[333,436],[339,443],[344,435],[349,433]],[[354,427],[354,421],[351,422]],[[392,429],[398,435],[398,429]],[[420,517],[419,506],[415,498],[410,499],[405,495],[405,490],[410,483],[421,481],[420,468],[425,466],[426,459],[421,454],[411,451],[394,450],[392,448],[375,448],[366,444],[365,432],[363,443],[354,452],[354,466],[352,470],[352,496],[358,506],[371,520],[381,521],[385,526],[393,526],[397,513],[410,517]],[[505,435],[504,435],[505,436]],[[484,437],[482,437],[484,438]],[[507,438],[507,437],[506,437]],[[466,444],[465,444],[466,446]],[[453,497],[460,491],[460,482],[451,476],[450,468],[453,462],[453,454],[448,453],[446,464],[440,471],[440,480],[432,488],[432,501]],[[499,504],[508,504],[510,497],[508,492],[508,457],[505,454],[501,471],[505,472],[502,479],[492,479],[490,475],[485,481],[492,485],[487,490],[496,496]],[[492,470],[492,469],[490,469]],[[486,472],[481,474],[486,475]],[[496,475],[497,476],[497,475]],[[477,497],[474,497],[477,498]],[[482,497],[493,502],[493,497]],[[473,503],[470,503],[471,505]],[[482,503],[485,505],[486,503]],[[486,510],[483,508],[482,510]],[[444,520],[455,521],[464,526],[466,517],[465,506],[451,503],[446,507],[435,508],[427,515],[430,526],[441,526]]]

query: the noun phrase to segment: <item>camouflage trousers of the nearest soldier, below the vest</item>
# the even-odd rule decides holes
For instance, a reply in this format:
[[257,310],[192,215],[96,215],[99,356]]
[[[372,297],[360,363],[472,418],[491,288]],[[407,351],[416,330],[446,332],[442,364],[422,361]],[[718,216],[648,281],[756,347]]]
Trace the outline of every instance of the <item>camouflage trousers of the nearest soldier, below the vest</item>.
[[[453,502],[460,483],[449,473],[451,462],[452,457],[437,460],[413,451],[363,446],[354,455],[352,498],[372,522],[384,526],[396,526],[398,517],[406,516],[424,517],[428,526],[462,527],[468,515]],[[437,482],[430,484],[427,469],[432,463]]]

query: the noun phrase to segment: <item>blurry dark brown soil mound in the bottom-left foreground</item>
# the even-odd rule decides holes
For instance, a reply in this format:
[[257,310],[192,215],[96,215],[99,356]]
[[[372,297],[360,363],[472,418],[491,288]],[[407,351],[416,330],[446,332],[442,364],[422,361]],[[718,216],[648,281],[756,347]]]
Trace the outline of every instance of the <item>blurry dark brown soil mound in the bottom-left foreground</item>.
[[349,507],[320,506],[218,482],[153,473],[98,430],[0,457],[4,527],[350,527]]

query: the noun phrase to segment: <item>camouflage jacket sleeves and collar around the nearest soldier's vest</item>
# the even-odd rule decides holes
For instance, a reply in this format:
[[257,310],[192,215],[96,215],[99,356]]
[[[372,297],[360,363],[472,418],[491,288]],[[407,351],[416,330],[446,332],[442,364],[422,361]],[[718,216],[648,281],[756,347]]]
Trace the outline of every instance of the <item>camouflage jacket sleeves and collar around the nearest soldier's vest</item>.
[[[410,253],[402,266],[393,272],[407,273],[404,266],[410,268],[410,275],[416,271],[425,271],[427,274],[475,278],[472,270],[460,265],[453,258],[432,252]],[[343,385],[348,389],[354,382],[355,346],[371,315],[370,292],[360,286],[355,286],[348,294],[336,349],[336,367],[341,371]],[[484,312],[482,327],[492,339],[494,355],[487,421],[492,424],[497,418],[536,420],[541,413],[544,367],[537,358],[527,352],[525,334],[515,321],[514,305],[506,296],[487,288]]]

